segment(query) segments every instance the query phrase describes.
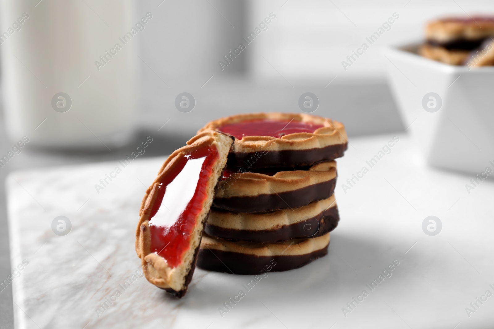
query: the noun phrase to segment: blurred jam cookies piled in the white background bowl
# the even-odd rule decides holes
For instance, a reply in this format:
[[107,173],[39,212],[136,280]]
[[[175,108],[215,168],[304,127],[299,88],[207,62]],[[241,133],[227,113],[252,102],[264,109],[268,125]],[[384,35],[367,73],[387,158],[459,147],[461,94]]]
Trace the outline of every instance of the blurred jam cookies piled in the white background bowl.
[[494,65],[494,16],[450,17],[429,22],[424,57],[452,65]]

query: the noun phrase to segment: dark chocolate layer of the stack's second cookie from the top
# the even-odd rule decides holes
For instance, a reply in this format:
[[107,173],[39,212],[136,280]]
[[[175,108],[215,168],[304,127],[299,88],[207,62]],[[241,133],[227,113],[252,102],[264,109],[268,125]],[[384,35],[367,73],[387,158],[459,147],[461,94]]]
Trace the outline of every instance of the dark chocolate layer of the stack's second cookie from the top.
[[334,192],[336,178],[292,191],[214,198],[213,207],[237,213],[263,213],[267,211],[306,206],[311,202],[329,198]]

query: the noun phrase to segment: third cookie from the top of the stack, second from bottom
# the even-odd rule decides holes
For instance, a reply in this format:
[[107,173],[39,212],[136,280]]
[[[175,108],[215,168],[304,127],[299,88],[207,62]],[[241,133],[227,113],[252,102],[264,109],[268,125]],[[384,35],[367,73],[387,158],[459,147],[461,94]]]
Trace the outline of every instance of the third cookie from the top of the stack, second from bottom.
[[273,243],[325,235],[338,221],[333,194],[304,207],[268,213],[232,213],[212,208],[204,232],[227,240]]

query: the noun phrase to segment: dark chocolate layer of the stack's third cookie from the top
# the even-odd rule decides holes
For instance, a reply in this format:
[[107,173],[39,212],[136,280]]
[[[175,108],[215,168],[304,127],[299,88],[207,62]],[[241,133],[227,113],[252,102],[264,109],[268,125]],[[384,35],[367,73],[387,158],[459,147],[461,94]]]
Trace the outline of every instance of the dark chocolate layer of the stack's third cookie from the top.
[[225,240],[244,240],[259,243],[273,243],[290,239],[315,238],[331,232],[338,225],[338,207],[331,207],[317,216],[298,223],[283,225],[272,230],[240,230],[224,228],[206,223],[207,235]]

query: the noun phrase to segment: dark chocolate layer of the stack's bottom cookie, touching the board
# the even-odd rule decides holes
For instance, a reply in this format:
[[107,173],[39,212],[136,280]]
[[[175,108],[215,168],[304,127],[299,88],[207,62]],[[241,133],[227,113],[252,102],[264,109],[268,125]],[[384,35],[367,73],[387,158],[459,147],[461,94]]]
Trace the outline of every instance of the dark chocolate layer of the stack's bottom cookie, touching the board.
[[307,265],[328,254],[328,246],[309,254],[294,256],[255,256],[215,249],[201,249],[197,267],[215,272],[233,274],[262,274],[281,272]]

